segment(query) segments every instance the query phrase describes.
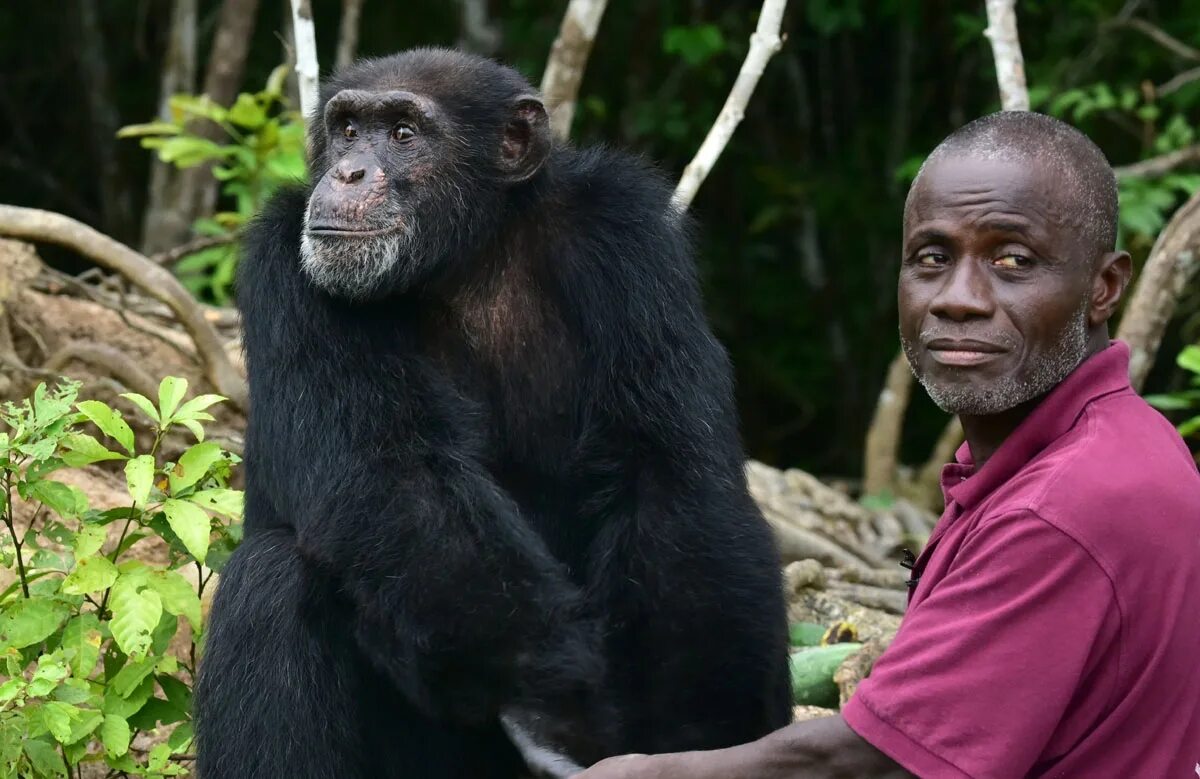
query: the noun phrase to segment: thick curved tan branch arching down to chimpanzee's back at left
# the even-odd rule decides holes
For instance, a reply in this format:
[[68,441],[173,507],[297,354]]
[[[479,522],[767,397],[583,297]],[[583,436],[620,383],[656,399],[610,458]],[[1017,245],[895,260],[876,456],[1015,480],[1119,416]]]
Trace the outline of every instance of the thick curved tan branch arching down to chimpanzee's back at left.
[[66,246],[121,274],[144,293],[166,304],[191,334],[212,386],[239,408],[246,408],[248,394],[245,379],[226,355],[221,338],[204,316],[204,308],[167,269],[86,224],[53,211],[0,205],[0,234]]

